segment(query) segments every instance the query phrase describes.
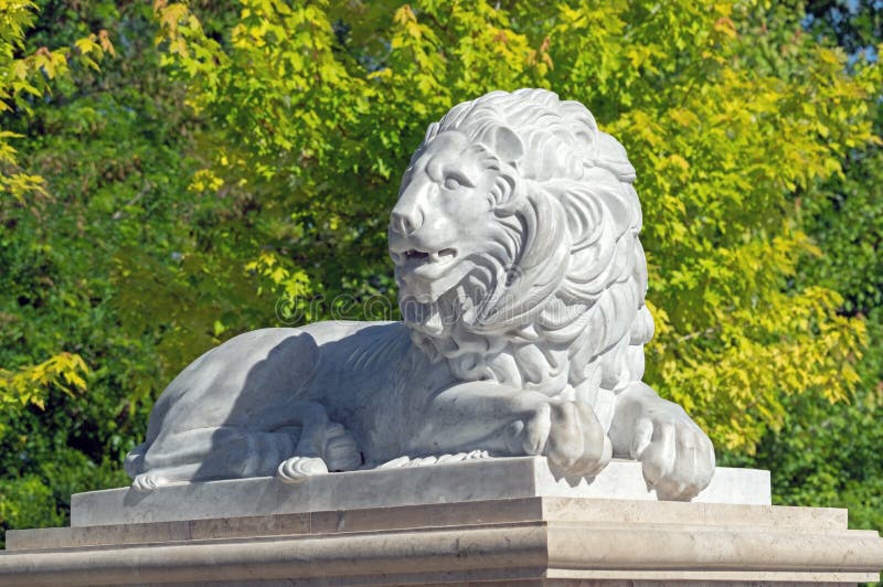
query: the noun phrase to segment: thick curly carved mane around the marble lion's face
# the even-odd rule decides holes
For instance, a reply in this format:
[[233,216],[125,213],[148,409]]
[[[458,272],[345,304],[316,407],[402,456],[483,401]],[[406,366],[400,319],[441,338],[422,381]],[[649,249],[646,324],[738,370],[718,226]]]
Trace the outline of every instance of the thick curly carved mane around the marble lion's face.
[[653,334],[625,149],[582,104],[544,89],[455,106],[412,162],[449,130],[470,139],[467,157],[499,173],[494,236],[469,257],[464,281],[432,303],[398,279],[412,340],[462,381],[586,402],[608,427],[617,389],[643,375]]

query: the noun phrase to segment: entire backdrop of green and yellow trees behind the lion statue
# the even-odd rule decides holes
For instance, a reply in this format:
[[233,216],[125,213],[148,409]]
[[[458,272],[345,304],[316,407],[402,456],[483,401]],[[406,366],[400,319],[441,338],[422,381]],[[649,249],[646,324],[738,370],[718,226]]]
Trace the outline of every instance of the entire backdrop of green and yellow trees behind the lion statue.
[[126,484],[209,348],[395,318],[386,218],[426,126],[534,86],[638,170],[648,382],[721,465],[772,469],[776,502],[883,530],[882,13],[0,0],[0,524]]

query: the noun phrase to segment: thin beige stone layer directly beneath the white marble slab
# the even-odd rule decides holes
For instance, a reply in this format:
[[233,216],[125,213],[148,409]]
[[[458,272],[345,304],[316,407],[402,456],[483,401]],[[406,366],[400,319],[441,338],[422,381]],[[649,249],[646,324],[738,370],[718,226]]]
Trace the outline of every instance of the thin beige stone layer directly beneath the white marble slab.
[[139,524],[105,524],[64,529],[15,530],[7,533],[8,551],[149,544],[187,540],[228,540],[249,536],[381,532],[546,521],[597,525],[692,525],[812,529],[837,532],[847,527],[847,511],[830,508],[706,504],[586,498],[517,498],[456,503],[318,510],[312,512],[208,517]]

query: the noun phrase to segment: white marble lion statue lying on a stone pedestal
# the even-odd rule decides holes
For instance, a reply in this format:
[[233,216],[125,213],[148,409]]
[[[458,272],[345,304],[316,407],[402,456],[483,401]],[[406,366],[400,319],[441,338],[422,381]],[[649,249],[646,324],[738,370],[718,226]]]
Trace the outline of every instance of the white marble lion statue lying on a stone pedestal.
[[426,131],[390,218],[403,322],[248,332],[153,407],[134,488],[541,455],[567,478],[637,459],[689,500],[714,449],[641,382],[653,333],[626,151],[579,103],[492,92]]

